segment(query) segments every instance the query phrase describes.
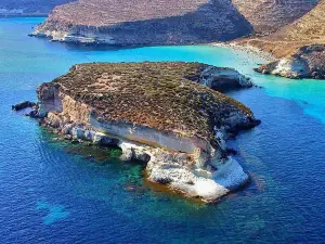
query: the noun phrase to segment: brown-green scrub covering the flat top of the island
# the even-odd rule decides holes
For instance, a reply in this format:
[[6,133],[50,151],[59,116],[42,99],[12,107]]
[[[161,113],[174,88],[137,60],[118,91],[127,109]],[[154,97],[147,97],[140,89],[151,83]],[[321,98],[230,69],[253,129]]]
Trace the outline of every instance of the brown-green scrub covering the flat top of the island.
[[127,121],[178,134],[211,139],[242,103],[200,86],[199,63],[91,63],[75,65],[52,85],[94,108],[99,119]]

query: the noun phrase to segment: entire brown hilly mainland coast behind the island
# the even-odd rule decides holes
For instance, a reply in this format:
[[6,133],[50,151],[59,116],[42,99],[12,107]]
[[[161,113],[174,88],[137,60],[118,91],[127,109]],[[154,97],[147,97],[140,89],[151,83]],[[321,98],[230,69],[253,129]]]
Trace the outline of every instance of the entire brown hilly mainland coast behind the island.
[[298,2],[78,0],[54,8],[29,36],[86,46],[221,46],[264,59],[255,69],[261,74],[324,79],[324,52],[314,62],[301,50],[324,44],[325,2]]

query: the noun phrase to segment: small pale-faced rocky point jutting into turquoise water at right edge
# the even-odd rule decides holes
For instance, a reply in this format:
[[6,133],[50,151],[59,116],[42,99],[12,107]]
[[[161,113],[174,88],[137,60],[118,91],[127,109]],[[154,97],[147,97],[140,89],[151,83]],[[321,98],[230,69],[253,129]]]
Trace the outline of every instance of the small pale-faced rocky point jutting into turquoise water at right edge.
[[325,46],[312,44],[302,47],[296,54],[283,57],[256,70],[291,79],[325,79]]

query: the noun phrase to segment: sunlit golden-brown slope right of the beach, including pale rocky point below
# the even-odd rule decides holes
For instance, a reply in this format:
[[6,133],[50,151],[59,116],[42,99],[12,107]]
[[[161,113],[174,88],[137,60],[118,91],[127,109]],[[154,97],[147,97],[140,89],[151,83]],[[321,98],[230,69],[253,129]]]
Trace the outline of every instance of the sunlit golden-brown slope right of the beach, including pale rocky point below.
[[288,78],[324,79],[325,76],[325,1],[294,23],[266,37],[236,41],[252,46],[280,59],[257,70]]

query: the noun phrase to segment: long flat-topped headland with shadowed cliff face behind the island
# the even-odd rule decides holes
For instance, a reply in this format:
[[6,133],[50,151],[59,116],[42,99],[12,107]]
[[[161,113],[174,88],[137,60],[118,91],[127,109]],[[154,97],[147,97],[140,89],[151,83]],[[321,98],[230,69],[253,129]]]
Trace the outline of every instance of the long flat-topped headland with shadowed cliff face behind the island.
[[252,28],[230,0],[79,0],[55,8],[34,35],[118,46],[231,40]]

